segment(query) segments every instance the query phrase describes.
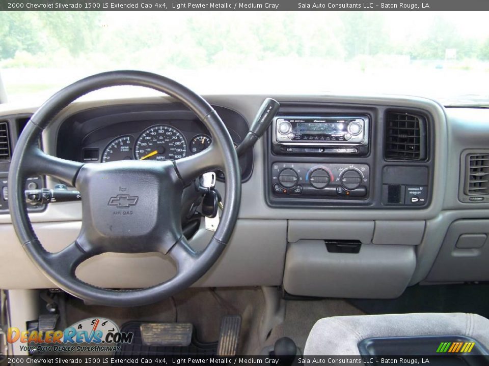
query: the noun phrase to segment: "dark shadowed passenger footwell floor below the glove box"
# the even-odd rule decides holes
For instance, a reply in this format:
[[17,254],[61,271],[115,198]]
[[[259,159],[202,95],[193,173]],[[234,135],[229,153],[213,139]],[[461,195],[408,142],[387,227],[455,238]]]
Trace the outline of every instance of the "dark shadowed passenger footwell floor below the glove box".
[[489,318],[489,284],[408,287],[392,300],[349,300],[367,314],[474,313]]

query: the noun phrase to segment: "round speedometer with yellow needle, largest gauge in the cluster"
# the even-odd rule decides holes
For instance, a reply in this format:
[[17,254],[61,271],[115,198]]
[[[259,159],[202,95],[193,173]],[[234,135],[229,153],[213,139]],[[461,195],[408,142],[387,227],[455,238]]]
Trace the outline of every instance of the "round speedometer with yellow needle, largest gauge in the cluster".
[[138,160],[176,160],[184,158],[186,153],[185,138],[171,126],[150,127],[136,141],[135,156]]

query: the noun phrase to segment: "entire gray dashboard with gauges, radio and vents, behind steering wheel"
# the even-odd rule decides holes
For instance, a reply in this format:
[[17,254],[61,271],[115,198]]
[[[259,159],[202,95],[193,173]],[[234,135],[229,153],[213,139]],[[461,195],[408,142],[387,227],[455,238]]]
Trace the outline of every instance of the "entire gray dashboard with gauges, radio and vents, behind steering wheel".
[[[205,98],[239,144],[265,97]],[[419,283],[489,281],[489,110],[415,97],[270,97],[280,110],[240,158],[242,199],[233,236],[195,286],[395,298]],[[0,106],[12,148],[34,111]],[[164,97],[74,103],[41,143],[51,155],[103,164],[178,159],[205,149],[209,136],[189,110]],[[7,171],[8,162],[0,163],[0,182]],[[225,204],[225,176],[218,177]],[[36,179],[47,188],[59,183]],[[7,202],[2,193],[0,203]],[[76,237],[81,205],[31,211],[47,250]],[[211,235],[202,224],[190,243],[202,248]],[[52,286],[25,256],[9,215],[0,215],[0,237],[0,287]],[[137,288],[171,277],[172,268],[152,254],[107,253],[82,263],[77,276],[98,286]],[[8,276],[13,271],[19,275]]]

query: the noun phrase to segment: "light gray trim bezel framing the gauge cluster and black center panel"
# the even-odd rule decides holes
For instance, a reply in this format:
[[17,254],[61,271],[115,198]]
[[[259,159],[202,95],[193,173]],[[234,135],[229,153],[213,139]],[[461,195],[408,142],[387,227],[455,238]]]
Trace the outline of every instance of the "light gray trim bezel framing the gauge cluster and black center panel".
[[[318,102],[318,103],[333,103],[338,106],[341,105],[357,105],[357,106],[391,106],[391,107],[408,107],[419,108],[430,113],[433,116],[433,131],[436,131],[437,139],[434,145],[434,153],[436,156],[447,157],[448,154],[448,137],[449,135],[447,127],[447,116],[444,107],[437,101],[426,99],[422,97],[413,96],[387,96],[387,95],[208,95],[204,96],[205,99],[214,106],[225,106],[244,117],[245,120],[250,121],[255,117],[256,110],[260,107],[265,97],[273,97],[281,102]],[[91,108],[101,106],[120,106],[120,105],[151,105],[151,104],[171,104],[175,100],[170,97],[148,97],[148,98],[127,98],[127,99],[103,99],[103,100],[85,100],[72,103],[68,108],[65,108],[57,117],[57,120],[53,123],[52,127],[43,133],[44,149],[53,154],[56,151],[56,131],[59,128],[61,121],[68,116]],[[35,107],[26,106],[23,108],[0,105],[0,114],[10,115],[16,113],[29,113],[34,112]],[[478,112],[478,111],[477,111]],[[486,113],[486,111],[482,111]],[[482,113],[480,112],[480,113]],[[460,113],[465,113],[461,110]],[[479,113],[479,112],[478,112]],[[455,114],[456,115],[456,114]],[[479,117],[477,117],[479,118]],[[481,125],[482,126],[482,125]],[[482,136],[482,135],[481,135]],[[454,136],[451,139],[455,138]],[[260,141],[261,140],[261,141]],[[254,168],[253,175],[250,179],[242,185],[243,200],[241,202],[241,208],[239,212],[240,219],[298,219],[298,220],[364,220],[366,211],[362,207],[345,208],[296,208],[295,210],[282,209],[276,207],[270,207],[265,201],[264,191],[264,162],[263,156],[265,151],[265,139],[260,139],[254,146]],[[457,158],[458,160],[458,158]],[[368,217],[371,220],[429,220],[434,219],[440,215],[442,209],[466,209],[470,210],[474,208],[471,204],[456,204],[451,201],[446,201],[445,197],[446,188],[446,176],[448,161],[445,158],[437,159],[433,162],[433,192],[436,194],[436,199],[433,199],[431,205],[427,208],[418,210],[409,210],[399,208],[397,210],[385,210],[385,209],[369,209]],[[458,174],[458,167],[457,167]],[[47,186],[52,188],[56,181],[48,178]],[[457,182],[458,185],[458,175]],[[218,182],[218,188],[224,186],[221,182]],[[450,189],[451,190],[451,189]],[[452,190],[451,190],[452,191]],[[448,193],[448,192],[447,192]],[[256,199],[251,199],[256,197]],[[443,198],[446,202],[444,203]],[[224,197],[225,199],[225,197]],[[457,200],[458,201],[458,200]],[[489,205],[480,204],[477,205],[480,209],[489,209]],[[75,203],[60,203],[58,205],[50,205],[47,209],[38,214],[31,214],[31,220],[33,222],[53,222],[53,221],[76,221],[80,219],[80,207],[79,202]],[[480,211],[482,215],[486,215],[485,211]],[[0,223],[10,223],[10,217],[7,215],[0,216]]]

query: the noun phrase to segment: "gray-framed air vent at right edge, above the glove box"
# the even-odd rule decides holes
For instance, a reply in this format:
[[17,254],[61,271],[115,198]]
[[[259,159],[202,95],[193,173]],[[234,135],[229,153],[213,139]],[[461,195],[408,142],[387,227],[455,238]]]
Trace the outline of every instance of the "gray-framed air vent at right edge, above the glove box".
[[465,193],[468,196],[489,194],[489,154],[468,154]]

